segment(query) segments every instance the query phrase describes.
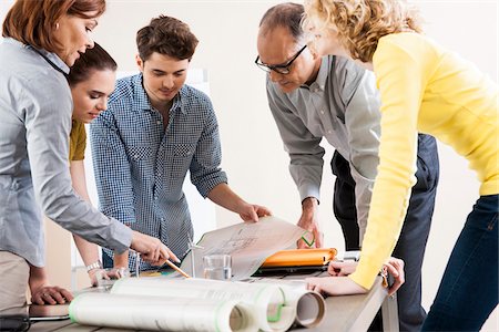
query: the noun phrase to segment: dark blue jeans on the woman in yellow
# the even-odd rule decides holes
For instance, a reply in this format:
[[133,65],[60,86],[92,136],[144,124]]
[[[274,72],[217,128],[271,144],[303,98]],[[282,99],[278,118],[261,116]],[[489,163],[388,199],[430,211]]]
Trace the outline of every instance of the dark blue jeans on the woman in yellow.
[[498,211],[499,195],[477,200],[422,331],[479,331],[498,304]]

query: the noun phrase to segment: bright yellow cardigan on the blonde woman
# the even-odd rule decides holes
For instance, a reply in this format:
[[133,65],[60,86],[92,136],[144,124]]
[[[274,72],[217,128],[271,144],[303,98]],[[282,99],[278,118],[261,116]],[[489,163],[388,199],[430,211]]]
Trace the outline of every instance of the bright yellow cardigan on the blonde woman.
[[416,181],[417,133],[469,160],[480,195],[499,194],[499,89],[471,63],[425,35],[379,39],[373,68],[381,94],[378,175],[360,261],[350,278],[369,289],[391,255]]

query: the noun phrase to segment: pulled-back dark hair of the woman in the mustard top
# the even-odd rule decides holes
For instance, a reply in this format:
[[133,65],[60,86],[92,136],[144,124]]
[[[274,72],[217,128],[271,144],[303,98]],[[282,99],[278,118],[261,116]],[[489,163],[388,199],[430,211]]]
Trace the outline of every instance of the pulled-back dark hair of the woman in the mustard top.
[[112,71],[118,68],[114,59],[98,43],[92,49],[88,49],[74,62],[68,75],[68,82],[71,86],[89,80],[94,71]]

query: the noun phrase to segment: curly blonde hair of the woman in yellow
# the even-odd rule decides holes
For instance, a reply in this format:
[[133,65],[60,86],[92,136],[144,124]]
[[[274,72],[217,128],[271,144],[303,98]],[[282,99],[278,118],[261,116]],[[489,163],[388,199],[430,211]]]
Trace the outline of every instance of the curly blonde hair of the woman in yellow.
[[421,32],[419,15],[404,0],[306,0],[304,24],[334,30],[352,58],[370,62],[387,34]]

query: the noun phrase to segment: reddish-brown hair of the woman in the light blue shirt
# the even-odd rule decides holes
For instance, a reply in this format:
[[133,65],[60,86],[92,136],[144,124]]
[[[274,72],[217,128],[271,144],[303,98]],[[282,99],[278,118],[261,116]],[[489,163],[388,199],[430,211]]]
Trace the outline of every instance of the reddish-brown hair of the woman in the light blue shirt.
[[[96,14],[89,17],[90,11]],[[23,44],[57,52],[63,49],[54,38],[55,22],[63,15],[91,19],[105,11],[105,0],[17,0],[3,21],[2,35]]]

